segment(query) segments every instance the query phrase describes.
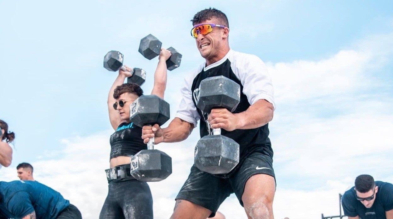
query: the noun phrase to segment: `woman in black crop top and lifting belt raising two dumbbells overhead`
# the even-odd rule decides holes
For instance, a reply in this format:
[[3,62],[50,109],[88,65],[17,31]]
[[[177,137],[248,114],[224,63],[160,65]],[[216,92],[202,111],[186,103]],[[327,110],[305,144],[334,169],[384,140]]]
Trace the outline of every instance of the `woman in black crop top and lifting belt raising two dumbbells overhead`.
[[[151,94],[164,98],[167,82],[165,61],[171,56],[161,49],[154,72]],[[115,132],[110,136],[110,168],[105,170],[108,179],[108,195],[99,215],[100,219],[152,219],[153,200],[149,185],[130,175],[130,158],[140,150],[147,149],[141,139],[142,129],[130,122],[130,104],[143,95],[136,83],[124,83],[132,76],[131,69],[119,70],[119,75],[109,90],[108,111],[110,124]]]

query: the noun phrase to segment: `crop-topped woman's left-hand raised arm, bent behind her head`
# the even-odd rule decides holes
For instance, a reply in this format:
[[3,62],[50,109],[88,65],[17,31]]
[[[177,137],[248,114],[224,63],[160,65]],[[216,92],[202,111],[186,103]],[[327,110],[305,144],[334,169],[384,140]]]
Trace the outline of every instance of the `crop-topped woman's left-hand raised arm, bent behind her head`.
[[[124,65],[128,71],[131,71],[129,67]],[[114,90],[117,86],[122,85],[124,83],[125,78],[132,76],[131,72],[119,70],[119,75],[116,80],[113,82],[112,87],[110,87],[108,94],[108,112],[109,112],[109,120],[110,125],[112,125],[113,129],[116,130],[118,126],[123,122],[120,118],[120,114],[118,110],[113,108],[113,104],[116,102],[115,98],[113,98]]]

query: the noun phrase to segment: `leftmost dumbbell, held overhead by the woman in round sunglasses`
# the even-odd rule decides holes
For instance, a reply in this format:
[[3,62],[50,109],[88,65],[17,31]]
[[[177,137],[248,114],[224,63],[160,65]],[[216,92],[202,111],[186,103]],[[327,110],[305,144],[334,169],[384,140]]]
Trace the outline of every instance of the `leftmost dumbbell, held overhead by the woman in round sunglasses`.
[[[104,68],[108,71],[119,71],[119,69],[127,71],[127,69],[123,66],[123,54],[119,51],[109,51],[104,56]],[[131,73],[132,76],[127,77],[127,83],[136,83],[139,86],[145,83],[145,70],[134,68],[131,70]]]

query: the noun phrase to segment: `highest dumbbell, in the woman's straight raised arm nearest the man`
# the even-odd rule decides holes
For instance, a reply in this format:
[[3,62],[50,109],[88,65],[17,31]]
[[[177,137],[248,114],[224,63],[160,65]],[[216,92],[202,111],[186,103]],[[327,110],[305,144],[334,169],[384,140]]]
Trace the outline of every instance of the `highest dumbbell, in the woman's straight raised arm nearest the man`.
[[[138,51],[142,54],[143,57],[147,58],[148,60],[152,60],[152,58],[160,55],[161,52],[162,42],[158,40],[152,34],[149,34],[141,39],[139,44]],[[168,48],[171,51],[171,57],[167,60],[167,69],[172,71],[180,66],[180,62],[182,62],[182,54],[180,54],[176,49],[173,47]]]

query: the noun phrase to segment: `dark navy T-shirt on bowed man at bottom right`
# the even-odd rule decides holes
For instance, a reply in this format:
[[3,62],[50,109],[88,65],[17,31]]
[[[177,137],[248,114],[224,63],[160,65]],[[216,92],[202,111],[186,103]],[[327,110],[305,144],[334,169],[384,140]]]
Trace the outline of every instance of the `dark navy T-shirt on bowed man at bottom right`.
[[378,192],[371,208],[366,208],[356,199],[355,186],[346,191],[342,197],[344,214],[349,217],[359,215],[362,219],[386,219],[386,213],[393,209],[393,185],[382,181],[375,181]]

